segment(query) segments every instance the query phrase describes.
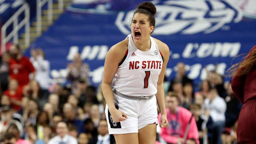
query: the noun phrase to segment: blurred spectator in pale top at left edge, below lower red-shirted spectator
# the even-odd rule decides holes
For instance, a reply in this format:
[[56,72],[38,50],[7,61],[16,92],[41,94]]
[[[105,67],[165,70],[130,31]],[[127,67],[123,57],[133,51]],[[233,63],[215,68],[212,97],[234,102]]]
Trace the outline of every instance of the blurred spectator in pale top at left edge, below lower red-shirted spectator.
[[10,106],[3,106],[0,120],[0,133],[5,133],[8,128],[15,125],[19,129],[20,136],[23,135],[22,124],[13,119],[13,109]]

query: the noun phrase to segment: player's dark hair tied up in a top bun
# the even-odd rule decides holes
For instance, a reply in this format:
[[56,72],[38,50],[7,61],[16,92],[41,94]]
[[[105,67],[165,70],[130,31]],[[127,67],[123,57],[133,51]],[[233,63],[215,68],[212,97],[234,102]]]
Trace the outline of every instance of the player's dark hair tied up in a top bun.
[[143,2],[143,3],[141,3],[138,6],[138,9],[134,12],[133,16],[136,13],[142,13],[142,14],[147,15],[148,16],[148,21],[150,22],[150,25],[155,27],[156,7],[152,2]]

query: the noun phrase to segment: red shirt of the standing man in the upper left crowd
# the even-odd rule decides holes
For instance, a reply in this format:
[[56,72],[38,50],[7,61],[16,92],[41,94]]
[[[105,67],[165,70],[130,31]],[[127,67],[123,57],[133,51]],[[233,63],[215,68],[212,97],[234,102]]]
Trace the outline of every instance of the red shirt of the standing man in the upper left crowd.
[[11,79],[16,79],[21,87],[29,83],[29,74],[35,72],[32,63],[24,56],[20,60],[12,58],[9,70]]

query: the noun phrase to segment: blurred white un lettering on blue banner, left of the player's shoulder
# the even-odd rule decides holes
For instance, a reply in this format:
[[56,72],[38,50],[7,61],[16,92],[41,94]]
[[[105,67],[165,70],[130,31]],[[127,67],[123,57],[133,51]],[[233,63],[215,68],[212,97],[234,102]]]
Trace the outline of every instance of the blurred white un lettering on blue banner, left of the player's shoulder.
[[[67,56],[67,60],[73,60],[76,53],[78,53],[78,46],[71,46]],[[104,60],[108,52],[108,46],[106,45],[95,45],[95,46],[85,46],[81,52],[81,59],[94,60]]]

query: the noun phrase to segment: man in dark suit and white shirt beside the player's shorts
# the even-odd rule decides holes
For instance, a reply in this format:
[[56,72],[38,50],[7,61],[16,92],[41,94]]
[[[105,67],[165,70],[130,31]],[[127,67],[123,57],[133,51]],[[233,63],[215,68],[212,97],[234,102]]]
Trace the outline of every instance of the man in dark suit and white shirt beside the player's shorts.
[[115,144],[115,138],[113,135],[108,134],[107,120],[101,120],[97,128],[98,135],[93,137],[88,144]]

